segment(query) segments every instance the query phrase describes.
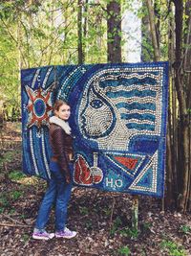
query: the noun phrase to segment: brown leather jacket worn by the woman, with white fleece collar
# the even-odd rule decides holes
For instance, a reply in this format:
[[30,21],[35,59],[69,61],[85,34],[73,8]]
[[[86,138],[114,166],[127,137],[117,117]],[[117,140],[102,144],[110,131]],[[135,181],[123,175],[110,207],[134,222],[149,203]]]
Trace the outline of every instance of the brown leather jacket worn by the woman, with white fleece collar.
[[67,180],[71,180],[69,163],[71,162],[73,151],[73,137],[67,134],[63,128],[50,125],[50,143],[53,150],[52,160],[58,162],[61,172]]

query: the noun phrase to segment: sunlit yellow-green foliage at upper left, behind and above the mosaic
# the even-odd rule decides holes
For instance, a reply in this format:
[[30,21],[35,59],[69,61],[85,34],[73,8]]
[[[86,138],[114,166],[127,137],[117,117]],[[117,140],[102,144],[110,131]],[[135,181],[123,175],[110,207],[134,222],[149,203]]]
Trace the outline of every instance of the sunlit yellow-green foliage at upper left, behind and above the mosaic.
[[[122,12],[127,9],[133,12],[132,0],[118,3]],[[83,3],[82,42],[86,63],[107,62],[106,9],[105,0],[99,4]],[[9,116],[12,108],[20,109],[20,69],[77,64],[77,11],[77,3],[70,0],[33,1],[31,5],[17,0],[0,4],[0,88]],[[114,34],[119,33],[114,28],[109,40],[113,41]]]

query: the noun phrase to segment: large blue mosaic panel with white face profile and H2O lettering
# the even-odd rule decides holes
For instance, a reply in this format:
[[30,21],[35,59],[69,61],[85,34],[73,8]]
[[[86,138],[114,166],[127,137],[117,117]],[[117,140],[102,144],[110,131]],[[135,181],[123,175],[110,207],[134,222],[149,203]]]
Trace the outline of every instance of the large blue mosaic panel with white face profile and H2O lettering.
[[21,71],[23,172],[50,178],[49,117],[70,103],[74,185],[163,196],[168,63],[46,66]]

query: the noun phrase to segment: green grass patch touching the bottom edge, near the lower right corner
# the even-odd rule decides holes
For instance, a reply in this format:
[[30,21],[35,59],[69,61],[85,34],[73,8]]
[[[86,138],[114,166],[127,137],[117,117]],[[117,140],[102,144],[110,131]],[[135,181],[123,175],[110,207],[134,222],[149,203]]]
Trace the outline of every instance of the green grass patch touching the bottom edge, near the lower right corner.
[[169,256],[186,256],[183,247],[173,241],[163,240],[159,245],[162,249],[167,251]]

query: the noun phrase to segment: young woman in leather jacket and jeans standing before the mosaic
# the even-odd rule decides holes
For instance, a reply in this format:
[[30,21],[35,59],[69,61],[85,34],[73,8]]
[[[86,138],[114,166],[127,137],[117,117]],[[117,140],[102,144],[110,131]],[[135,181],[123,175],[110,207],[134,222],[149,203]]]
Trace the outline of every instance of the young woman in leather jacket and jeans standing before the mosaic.
[[[71,107],[66,102],[57,100],[53,105],[54,116],[50,118],[50,143],[53,151],[50,170],[51,180],[42,200],[35,222],[32,238],[49,240],[56,238],[74,238],[75,231],[66,227],[67,205],[72,191],[73,137],[67,122]],[[51,208],[55,203],[55,233],[45,230]]]

